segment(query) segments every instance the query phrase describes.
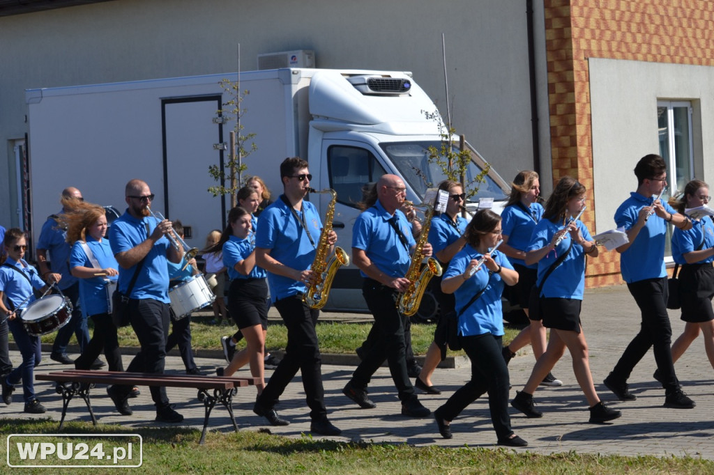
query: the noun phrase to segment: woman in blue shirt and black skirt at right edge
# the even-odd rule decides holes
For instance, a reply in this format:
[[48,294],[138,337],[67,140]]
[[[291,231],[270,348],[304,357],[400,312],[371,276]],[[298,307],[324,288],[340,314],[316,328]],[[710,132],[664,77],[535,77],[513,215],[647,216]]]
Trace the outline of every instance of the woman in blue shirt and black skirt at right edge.
[[[684,214],[688,208],[698,208],[709,203],[709,185],[702,180],[692,180],[684,193],[670,201],[670,206]],[[672,257],[682,266],[679,273],[679,291],[682,302],[684,332],[672,344],[672,360],[676,362],[689,345],[704,332],[704,349],[709,363],[714,367],[714,223],[711,216],[692,220],[692,228],[683,231],[675,227],[672,234]],[[655,372],[655,379],[658,378]]]

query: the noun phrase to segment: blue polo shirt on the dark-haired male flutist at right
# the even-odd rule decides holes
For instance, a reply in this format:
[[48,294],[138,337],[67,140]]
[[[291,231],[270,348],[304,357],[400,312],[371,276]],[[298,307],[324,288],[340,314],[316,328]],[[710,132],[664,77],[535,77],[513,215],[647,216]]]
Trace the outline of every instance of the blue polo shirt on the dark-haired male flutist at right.
[[[637,223],[638,214],[645,206],[650,206],[655,197],[630,193],[615,212],[615,225],[630,230]],[[663,203],[667,213],[677,213],[670,205]],[[651,215],[640,230],[628,250],[620,254],[620,272],[625,282],[632,283],[645,279],[665,277],[665,235],[668,223],[658,215]]]

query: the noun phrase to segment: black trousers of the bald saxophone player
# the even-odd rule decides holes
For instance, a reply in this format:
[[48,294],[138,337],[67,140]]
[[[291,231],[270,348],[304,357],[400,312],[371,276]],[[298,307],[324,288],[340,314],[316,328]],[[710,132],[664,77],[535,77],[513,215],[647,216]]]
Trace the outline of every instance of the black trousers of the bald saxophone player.
[[352,374],[352,382],[357,387],[366,388],[374,372],[386,359],[399,399],[405,402],[414,397],[414,387],[406,369],[404,329],[409,318],[398,312],[398,292],[391,287],[381,285],[376,280],[365,279],[362,295],[374,317],[372,330],[376,340]]

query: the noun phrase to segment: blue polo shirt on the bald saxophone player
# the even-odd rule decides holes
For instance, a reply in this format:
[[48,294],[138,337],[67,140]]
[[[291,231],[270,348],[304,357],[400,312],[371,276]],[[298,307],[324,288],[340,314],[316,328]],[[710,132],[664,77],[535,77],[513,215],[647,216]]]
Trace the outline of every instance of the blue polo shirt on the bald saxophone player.
[[[411,225],[404,213],[396,210],[394,216],[409,249],[403,245],[392,225],[388,223],[392,215],[387,213],[379,200],[357,217],[352,228],[352,247],[365,251],[372,263],[386,275],[404,277],[411,264],[410,250],[416,245],[416,241],[411,235]],[[368,277],[362,271],[360,274],[362,277]]]

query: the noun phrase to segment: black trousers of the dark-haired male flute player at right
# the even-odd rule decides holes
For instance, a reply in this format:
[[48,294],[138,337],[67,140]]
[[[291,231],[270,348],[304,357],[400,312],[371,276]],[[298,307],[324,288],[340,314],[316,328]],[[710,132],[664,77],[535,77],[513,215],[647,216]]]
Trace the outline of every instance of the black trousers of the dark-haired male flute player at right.
[[630,294],[635,297],[642,323],[640,331],[632,339],[620,360],[613,369],[613,378],[627,381],[630,373],[643,356],[653,347],[655,362],[664,380],[663,386],[670,391],[679,387],[672,362],[672,327],[667,314],[667,277],[660,279],[639,280],[627,285]]

